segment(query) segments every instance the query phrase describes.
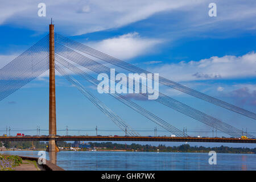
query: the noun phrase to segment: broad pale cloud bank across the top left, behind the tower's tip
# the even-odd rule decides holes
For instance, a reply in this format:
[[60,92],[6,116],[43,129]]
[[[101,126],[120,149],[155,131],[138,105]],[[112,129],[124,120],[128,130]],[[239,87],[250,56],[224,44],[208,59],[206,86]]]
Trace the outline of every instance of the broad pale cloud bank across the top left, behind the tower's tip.
[[[203,0],[196,1],[197,3]],[[190,0],[45,0],[46,18],[38,17],[38,3],[41,1],[1,2],[0,24],[14,23],[33,30],[47,30],[46,23],[53,18],[58,26],[71,34],[85,34],[117,28],[137,22],[167,10],[192,5]]]

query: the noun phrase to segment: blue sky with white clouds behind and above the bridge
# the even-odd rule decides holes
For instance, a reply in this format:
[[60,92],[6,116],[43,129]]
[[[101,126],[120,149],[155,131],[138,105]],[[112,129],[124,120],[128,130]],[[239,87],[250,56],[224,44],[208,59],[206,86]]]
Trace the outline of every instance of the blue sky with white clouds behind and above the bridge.
[[[59,34],[255,113],[255,1],[214,1],[216,17],[208,15],[208,5],[213,1],[203,0],[44,1],[46,17],[38,16],[40,2],[1,2],[1,68],[43,38],[53,18]],[[109,118],[56,74],[57,129],[63,130],[58,131],[60,135],[65,134],[65,126],[70,134],[77,135],[78,131],[72,130],[78,129],[82,130],[80,134],[95,134],[96,125],[99,134],[122,135]],[[11,127],[12,134],[40,126],[41,133],[47,134],[47,76],[43,74],[0,102],[1,133],[6,126]],[[154,135],[154,123],[80,81],[142,135]],[[256,135],[253,119],[164,86],[160,86],[160,92]],[[212,136],[212,129],[203,123],[155,101],[133,99],[179,129],[187,127],[189,135]],[[160,135],[169,135],[160,127],[158,130]]]

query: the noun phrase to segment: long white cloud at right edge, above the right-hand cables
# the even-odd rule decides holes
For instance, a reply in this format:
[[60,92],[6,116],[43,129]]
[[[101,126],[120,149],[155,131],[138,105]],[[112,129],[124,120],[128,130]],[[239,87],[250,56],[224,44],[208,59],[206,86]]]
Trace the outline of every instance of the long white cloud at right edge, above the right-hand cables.
[[256,53],[249,52],[243,56],[213,56],[188,63],[181,61],[154,67],[151,71],[175,81],[255,77]]

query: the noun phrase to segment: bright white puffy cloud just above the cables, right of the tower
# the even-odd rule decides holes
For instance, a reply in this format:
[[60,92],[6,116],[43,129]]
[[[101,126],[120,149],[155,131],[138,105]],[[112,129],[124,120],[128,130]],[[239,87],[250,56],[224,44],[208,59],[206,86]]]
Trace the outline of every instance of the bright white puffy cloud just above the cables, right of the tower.
[[108,52],[108,55],[126,60],[151,52],[152,48],[162,43],[159,39],[141,38],[137,32],[105,39],[100,42],[87,43],[98,51]]

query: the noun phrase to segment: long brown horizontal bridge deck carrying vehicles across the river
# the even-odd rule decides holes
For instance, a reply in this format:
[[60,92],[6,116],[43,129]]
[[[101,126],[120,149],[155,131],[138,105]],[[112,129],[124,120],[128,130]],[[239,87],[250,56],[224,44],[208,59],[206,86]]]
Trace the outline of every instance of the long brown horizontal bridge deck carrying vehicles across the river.
[[[56,141],[144,141],[144,142],[224,142],[224,143],[256,143],[256,139],[239,138],[197,138],[197,137],[96,137],[71,136],[52,137]],[[0,137],[0,141],[48,141],[51,137]]]

